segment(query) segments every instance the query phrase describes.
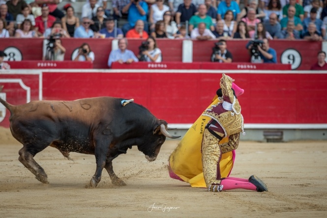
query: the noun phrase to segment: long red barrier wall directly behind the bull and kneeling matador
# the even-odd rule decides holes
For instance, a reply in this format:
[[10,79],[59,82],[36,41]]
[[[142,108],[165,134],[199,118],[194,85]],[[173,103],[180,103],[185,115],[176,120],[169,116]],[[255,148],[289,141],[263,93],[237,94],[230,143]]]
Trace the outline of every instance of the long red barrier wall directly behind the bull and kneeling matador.
[[[75,100],[96,96],[114,96],[147,107],[169,123],[193,123],[210,103],[219,87],[221,72],[205,73],[119,73],[92,71],[80,73],[45,72],[43,99]],[[198,72],[198,73],[197,73]],[[239,97],[247,124],[327,123],[327,74],[318,73],[247,73],[228,72],[245,90]],[[5,75],[0,79],[22,78],[31,87],[31,100],[37,99],[38,76]],[[18,94],[19,86],[4,84],[3,92],[11,104],[22,104],[26,95]],[[34,94],[33,94],[34,93]],[[7,117],[0,125],[8,125]]]

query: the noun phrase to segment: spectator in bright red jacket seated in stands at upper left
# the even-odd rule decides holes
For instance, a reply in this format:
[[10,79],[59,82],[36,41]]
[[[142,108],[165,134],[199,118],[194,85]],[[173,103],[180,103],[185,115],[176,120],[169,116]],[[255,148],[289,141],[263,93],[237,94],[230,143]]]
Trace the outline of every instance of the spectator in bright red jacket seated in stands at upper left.
[[52,27],[53,23],[56,21],[56,18],[49,14],[50,11],[47,4],[42,5],[41,11],[42,15],[35,18],[35,31],[38,36],[42,36],[44,31],[48,27]]

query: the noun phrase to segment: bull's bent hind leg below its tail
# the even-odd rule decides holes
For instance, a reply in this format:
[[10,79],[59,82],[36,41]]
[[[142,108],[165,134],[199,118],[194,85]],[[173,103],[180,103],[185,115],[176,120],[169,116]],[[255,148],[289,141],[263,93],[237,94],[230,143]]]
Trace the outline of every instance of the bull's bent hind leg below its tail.
[[44,184],[49,184],[48,176],[44,169],[33,159],[33,157],[44,148],[37,149],[37,147],[34,146],[33,149],[29,149],[28,145],[24,145],[24,147],[19,150],[18,160],[35,175],[35,178],[38,181]]

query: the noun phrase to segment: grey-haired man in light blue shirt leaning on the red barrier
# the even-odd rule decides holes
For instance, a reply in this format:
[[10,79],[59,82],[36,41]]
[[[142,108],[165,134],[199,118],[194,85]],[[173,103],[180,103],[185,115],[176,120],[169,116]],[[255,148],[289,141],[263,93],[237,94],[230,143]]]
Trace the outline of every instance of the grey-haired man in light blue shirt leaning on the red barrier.
[[139,62],[135,54],[127,49],[128,42],[126,38],[121,38],[118,40],[119,49],[111,51],[108,58],[108,67],[111,67],[112,63],[118,62],[122,63],[133,63]]

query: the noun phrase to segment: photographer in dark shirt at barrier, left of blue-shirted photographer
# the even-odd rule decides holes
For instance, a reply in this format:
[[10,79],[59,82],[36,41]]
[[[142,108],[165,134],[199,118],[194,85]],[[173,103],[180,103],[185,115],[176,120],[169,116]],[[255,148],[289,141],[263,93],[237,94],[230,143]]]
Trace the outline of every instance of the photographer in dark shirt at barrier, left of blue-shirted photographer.
[[227,44],[224,39],[216,42],[215,47],[212,48],[211,62],[232,63],[233,55],[226,48]]

